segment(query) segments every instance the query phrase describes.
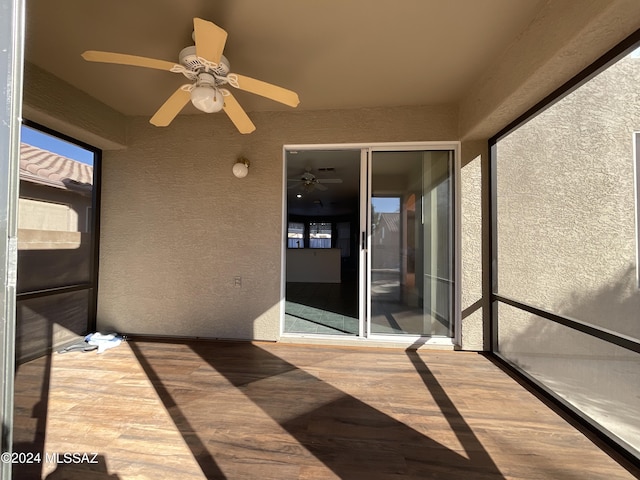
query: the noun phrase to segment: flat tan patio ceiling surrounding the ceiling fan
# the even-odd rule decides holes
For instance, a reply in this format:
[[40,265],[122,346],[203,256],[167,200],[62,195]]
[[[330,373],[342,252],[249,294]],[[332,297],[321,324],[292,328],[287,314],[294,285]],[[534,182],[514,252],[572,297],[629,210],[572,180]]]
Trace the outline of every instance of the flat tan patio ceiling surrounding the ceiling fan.
[[[27,0],[26,60],[125,115],[184,77],[85,62],[84,50],[177,61],[193,17],[228,34],[232,72],[296,91],[299,109],[456,103],[544,0]],[[251,111],[289,107],[239,92]],[[189,107],[184,114],[197,113]]]

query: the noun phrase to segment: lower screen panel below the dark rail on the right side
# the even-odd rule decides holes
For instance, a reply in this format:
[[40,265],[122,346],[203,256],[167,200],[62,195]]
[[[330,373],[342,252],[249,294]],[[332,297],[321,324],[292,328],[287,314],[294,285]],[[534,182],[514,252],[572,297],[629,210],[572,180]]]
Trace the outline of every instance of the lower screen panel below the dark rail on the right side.
[[640,355],[509,305],[498,351],[640,454]]

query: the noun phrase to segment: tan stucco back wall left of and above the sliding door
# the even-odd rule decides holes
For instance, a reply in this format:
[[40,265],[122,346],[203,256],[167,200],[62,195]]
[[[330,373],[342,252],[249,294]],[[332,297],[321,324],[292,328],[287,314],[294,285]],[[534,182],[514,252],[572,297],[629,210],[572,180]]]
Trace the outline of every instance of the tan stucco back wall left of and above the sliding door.
[[[100,328],[154,335],[277,339],[284,144],[452,140],[455,108],[223,115],[164,129],[128,124],[103,162]],[[231,174],[235,159],[249,175]],[[242,287],[234,277],[242,277]]]

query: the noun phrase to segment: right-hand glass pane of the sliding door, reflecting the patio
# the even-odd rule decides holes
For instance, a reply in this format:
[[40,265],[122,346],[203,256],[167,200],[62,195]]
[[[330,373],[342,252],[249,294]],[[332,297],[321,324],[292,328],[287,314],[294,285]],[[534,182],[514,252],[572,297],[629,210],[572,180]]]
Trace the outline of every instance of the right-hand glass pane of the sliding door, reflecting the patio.
[[453,155],[374,152],[371,333],[451,336]]

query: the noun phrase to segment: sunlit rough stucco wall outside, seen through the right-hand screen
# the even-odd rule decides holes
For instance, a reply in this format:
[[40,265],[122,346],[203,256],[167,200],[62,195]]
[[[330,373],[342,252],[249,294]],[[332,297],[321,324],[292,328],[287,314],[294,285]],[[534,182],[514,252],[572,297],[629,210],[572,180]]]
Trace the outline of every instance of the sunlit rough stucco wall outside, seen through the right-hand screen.
[[[635,338],[638,85],[627,57],[500,141],[497,184],[499,292]],[[529,317],[503,317],[502,349],[583,351]]]

